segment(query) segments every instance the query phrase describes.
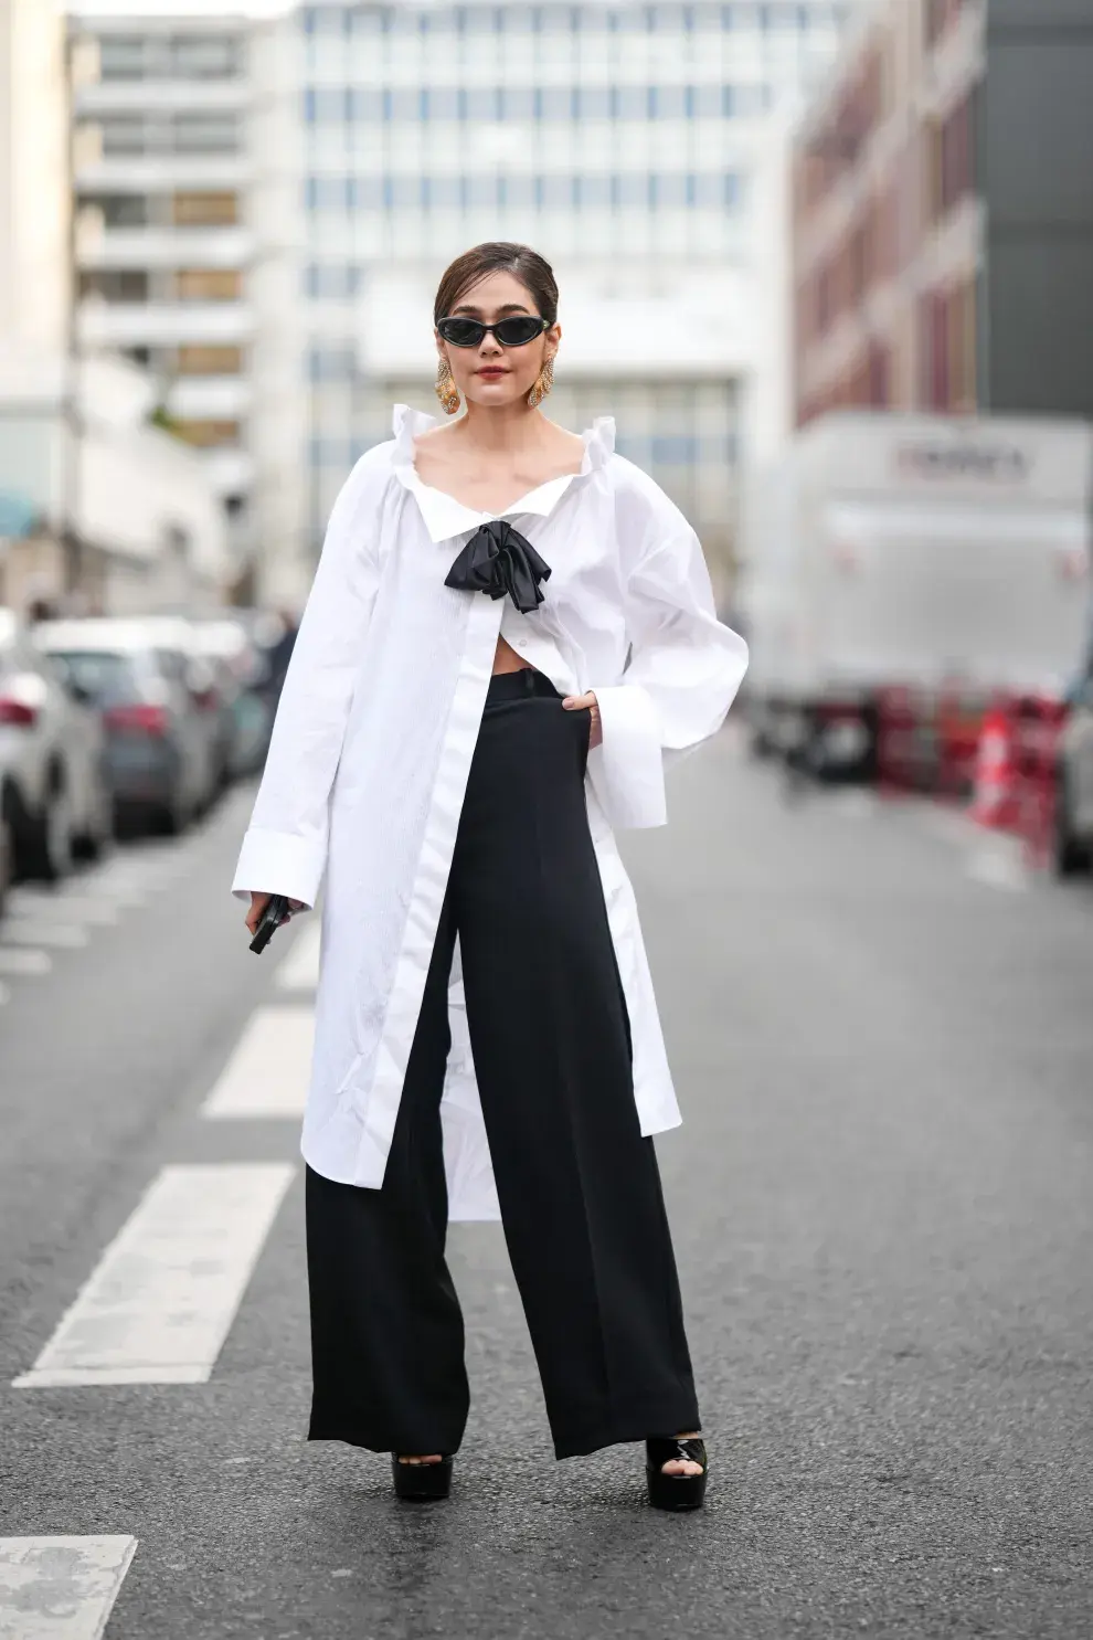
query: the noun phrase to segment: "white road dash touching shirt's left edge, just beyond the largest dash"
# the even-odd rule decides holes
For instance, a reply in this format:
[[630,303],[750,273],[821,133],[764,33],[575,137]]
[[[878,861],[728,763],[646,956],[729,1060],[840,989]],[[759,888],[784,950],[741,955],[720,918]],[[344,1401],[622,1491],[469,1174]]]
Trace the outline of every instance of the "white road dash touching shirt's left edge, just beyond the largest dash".
[[311,1009],[256,1009],[202,1115],[229,1120],[303,1115],[313,1036]]

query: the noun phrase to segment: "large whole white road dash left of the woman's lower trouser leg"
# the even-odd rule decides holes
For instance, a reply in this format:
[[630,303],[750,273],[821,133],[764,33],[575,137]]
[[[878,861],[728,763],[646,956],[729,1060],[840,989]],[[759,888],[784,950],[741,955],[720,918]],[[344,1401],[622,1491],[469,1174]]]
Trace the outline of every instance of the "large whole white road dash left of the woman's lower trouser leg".
[[164,1168],[13,1387],[206,1383],[293,1171]]

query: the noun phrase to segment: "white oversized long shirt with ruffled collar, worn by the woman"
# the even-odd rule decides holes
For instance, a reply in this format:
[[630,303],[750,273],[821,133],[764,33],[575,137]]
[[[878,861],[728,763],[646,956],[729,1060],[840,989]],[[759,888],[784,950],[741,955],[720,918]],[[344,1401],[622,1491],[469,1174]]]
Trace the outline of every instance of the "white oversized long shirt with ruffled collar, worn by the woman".
[[[634,894],[613,827],[665,820],[664,764],[713,735],[747,664],[716,618],[698,540],[667,495],[583,435],[578,474],[503,515],[415,471],[431,417],[395,408],[331,513],[285,677],[233,892],[323,895],[315,1055],[303,1156],[379,1187],[421,1009],[498,633],[562,694],[595,690],[588,820],[631,1020],[642,1133],[680,1120]],[[505,517],[551,566],[544,602],[444,585],[460,548]],[[459,968],[441,1120],[452,1219],[498,1217]]]

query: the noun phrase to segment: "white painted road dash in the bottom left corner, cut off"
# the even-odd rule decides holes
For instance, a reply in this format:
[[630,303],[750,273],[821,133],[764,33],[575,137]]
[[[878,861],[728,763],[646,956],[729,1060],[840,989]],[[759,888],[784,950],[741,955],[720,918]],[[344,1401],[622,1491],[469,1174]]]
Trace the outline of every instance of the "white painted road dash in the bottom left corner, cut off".
[[133,1537],[0,1538],[0,1640],[100,1640]]

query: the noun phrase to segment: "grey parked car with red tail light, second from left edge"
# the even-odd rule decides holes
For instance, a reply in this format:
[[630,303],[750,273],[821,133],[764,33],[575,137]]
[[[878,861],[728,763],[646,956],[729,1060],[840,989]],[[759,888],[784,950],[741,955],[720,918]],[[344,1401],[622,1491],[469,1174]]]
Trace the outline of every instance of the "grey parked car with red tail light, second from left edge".
[[213,797],[215,692],[184,622],[43,622],[34,641],[98,708],[120,823],[180,831]]

